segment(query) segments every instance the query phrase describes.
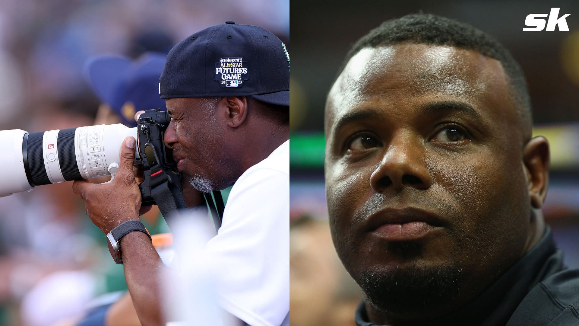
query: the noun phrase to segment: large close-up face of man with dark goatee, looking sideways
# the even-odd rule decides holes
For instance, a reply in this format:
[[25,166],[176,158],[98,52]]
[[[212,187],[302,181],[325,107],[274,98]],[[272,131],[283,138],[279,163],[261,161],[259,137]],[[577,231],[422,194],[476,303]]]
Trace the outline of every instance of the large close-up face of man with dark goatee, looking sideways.
[[352,57],[328,96],[325,180],[336,250],[372,303],[468,297],[461,284],[483,289],[521,258],[520,114],[500,61],[478,52],[398,44]]

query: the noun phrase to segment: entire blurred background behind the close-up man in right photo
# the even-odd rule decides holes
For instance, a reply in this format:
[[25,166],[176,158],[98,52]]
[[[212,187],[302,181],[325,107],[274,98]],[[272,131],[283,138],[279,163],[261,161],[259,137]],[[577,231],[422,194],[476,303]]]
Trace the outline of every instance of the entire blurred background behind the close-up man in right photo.
[[[551,8],[560,8],[559,17],[571,14],[566,19],[569,32],[522,31],[527,15],[547,14]],[[303,302],[310,305],[307,316],[291,311],[292,322],[300,321],[296,325],[340,325],[327,316],[343,315],[340,322],[353,325],[354,308],[347,313],[343,308],[345,302],[351,306],[351,302],[361,298],[351,280],[340,277],[343,274],[328,271],[325,281],[320,281],[305,271],[313,260],[326,267],[341,267],[316,258],[321,255],[316,252],[325,248],[323,243],[315,251],[306,251],[302,245],[303,241],[313,241],[313,234],[323,241],[329,237],[329,233],[319,231],[322,225],[328,228],[323,174],[323,121],[328,90],[358,38],[384,20],[420,10],[488,32],[521,64],[533,104],[534,135],[544,135],[551,143],[552,166],[543,212],[565,252],[566,264],[579,267],[579,2],[335,0],[328,4],[291,0],[291,264],[303,269],[303,273],[292,274],[291,287],[297,295],[292,292],[291,301],[294,306]],[[296,238],[301,240],[294,242]],[[302,287],[298,288],[298,284]],[[313,300],[301,295],[322,291],[331,293],[332,298]]]

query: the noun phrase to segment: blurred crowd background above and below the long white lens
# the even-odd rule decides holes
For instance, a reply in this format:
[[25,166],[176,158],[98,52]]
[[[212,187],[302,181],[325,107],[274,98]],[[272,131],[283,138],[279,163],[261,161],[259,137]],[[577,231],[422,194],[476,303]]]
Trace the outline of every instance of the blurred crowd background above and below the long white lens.
[[[82,75],[94,55],[167,53],[226,20],[264,27],[291,51],[289,7],[289,0],[1,0],[0,130],[95,124],[100,103]],[[158,211],[143,219],[152,234],[167,231]],[[0,325],[71,325],[95,298],[125,291],[106,243],[72,182],[0,198]]]

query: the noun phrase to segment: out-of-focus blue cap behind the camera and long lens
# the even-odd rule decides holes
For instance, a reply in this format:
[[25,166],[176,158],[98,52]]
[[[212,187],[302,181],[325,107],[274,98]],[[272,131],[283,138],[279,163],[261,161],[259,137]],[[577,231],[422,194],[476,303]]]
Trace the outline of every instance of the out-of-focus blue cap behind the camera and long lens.
[[123,124],[137,126],[140,110],[167,110],[159,99],[159,76],[167,55],[144,53],[135,60],[124,56],[94,56],[86,61],[83,75],[94,93],[122,118]]

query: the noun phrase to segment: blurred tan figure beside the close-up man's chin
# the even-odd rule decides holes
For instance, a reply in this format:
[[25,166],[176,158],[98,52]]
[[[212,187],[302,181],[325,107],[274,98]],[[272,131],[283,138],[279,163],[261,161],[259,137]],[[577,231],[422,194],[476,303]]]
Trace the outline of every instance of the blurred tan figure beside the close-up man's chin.
[[299,326],[352,326],[360,287],[340,263],[327,220],[290,224],[290,320]]

